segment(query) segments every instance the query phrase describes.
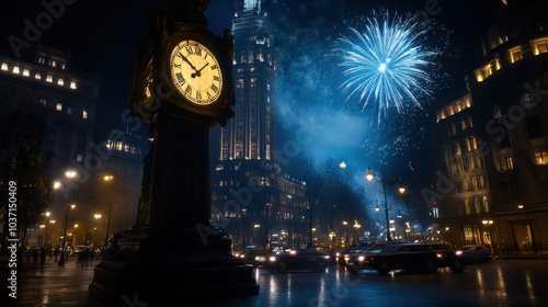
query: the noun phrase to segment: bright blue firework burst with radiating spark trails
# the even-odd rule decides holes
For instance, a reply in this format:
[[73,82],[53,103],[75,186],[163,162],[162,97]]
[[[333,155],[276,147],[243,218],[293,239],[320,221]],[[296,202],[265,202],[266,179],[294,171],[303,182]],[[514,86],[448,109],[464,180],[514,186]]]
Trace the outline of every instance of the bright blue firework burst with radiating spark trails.
[[346,78],[340,86],[349,93],[346,102],[358,95],[362,112],[369,103],[377,103],[378,124],[392,104],[398,113],[408,101],[421,107],[419,95],[431,94],[432,79],[425,69],[433,65],[429,59],[436,56],[421,46],[426,30],[419,30],[412,19],[395,15],[390,20],[388,13],[380,19],[367,18],[363,32],[350,27],[353,36],[339,38],[345,48],[335,49]]

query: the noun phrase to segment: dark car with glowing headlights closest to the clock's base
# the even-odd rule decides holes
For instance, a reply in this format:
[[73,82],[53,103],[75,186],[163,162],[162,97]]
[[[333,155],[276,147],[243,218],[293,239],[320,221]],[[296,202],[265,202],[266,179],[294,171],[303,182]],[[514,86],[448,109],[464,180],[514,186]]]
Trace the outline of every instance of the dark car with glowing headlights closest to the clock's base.
[[324,272],[331,257],[316,249],[298,249],[272,253],[265,259],[263,268],[271,272],[290,271]]

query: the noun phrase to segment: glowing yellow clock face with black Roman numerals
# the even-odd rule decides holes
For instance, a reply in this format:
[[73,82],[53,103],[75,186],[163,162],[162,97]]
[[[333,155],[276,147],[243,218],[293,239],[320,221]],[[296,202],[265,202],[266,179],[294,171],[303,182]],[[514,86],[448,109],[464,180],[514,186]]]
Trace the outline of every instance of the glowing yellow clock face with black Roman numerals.
[[196,41],[176,44],[170,56],[170,73],[178,91],[194,104],[208,105],[220,96],[224,80],[219,62]]

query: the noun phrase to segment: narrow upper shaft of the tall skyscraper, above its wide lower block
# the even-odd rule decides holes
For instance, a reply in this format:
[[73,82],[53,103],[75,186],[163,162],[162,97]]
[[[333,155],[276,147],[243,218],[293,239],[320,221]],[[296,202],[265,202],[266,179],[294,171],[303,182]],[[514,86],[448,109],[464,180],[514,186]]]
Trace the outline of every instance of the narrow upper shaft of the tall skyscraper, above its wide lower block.
[[247,0],[232,21],[235,117],[220,132],[219,160],[276,162],[276,54],[261,1]]

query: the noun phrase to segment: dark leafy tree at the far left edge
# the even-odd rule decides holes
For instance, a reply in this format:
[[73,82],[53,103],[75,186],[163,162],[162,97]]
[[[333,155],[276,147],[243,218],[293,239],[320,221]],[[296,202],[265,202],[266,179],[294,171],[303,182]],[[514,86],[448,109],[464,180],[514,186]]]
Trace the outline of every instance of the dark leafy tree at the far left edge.
[[[13,111],[1,118],[4,136],[0,141],[0,191],[7,195],[9,182],[16,184],[18,235],[24,250],[26,229],[39,221],[53,195],[53,158],[49,147],[54,127],[43,112]],[[7,253],[8,202],[0,211],[4,217],[2,253]]]

